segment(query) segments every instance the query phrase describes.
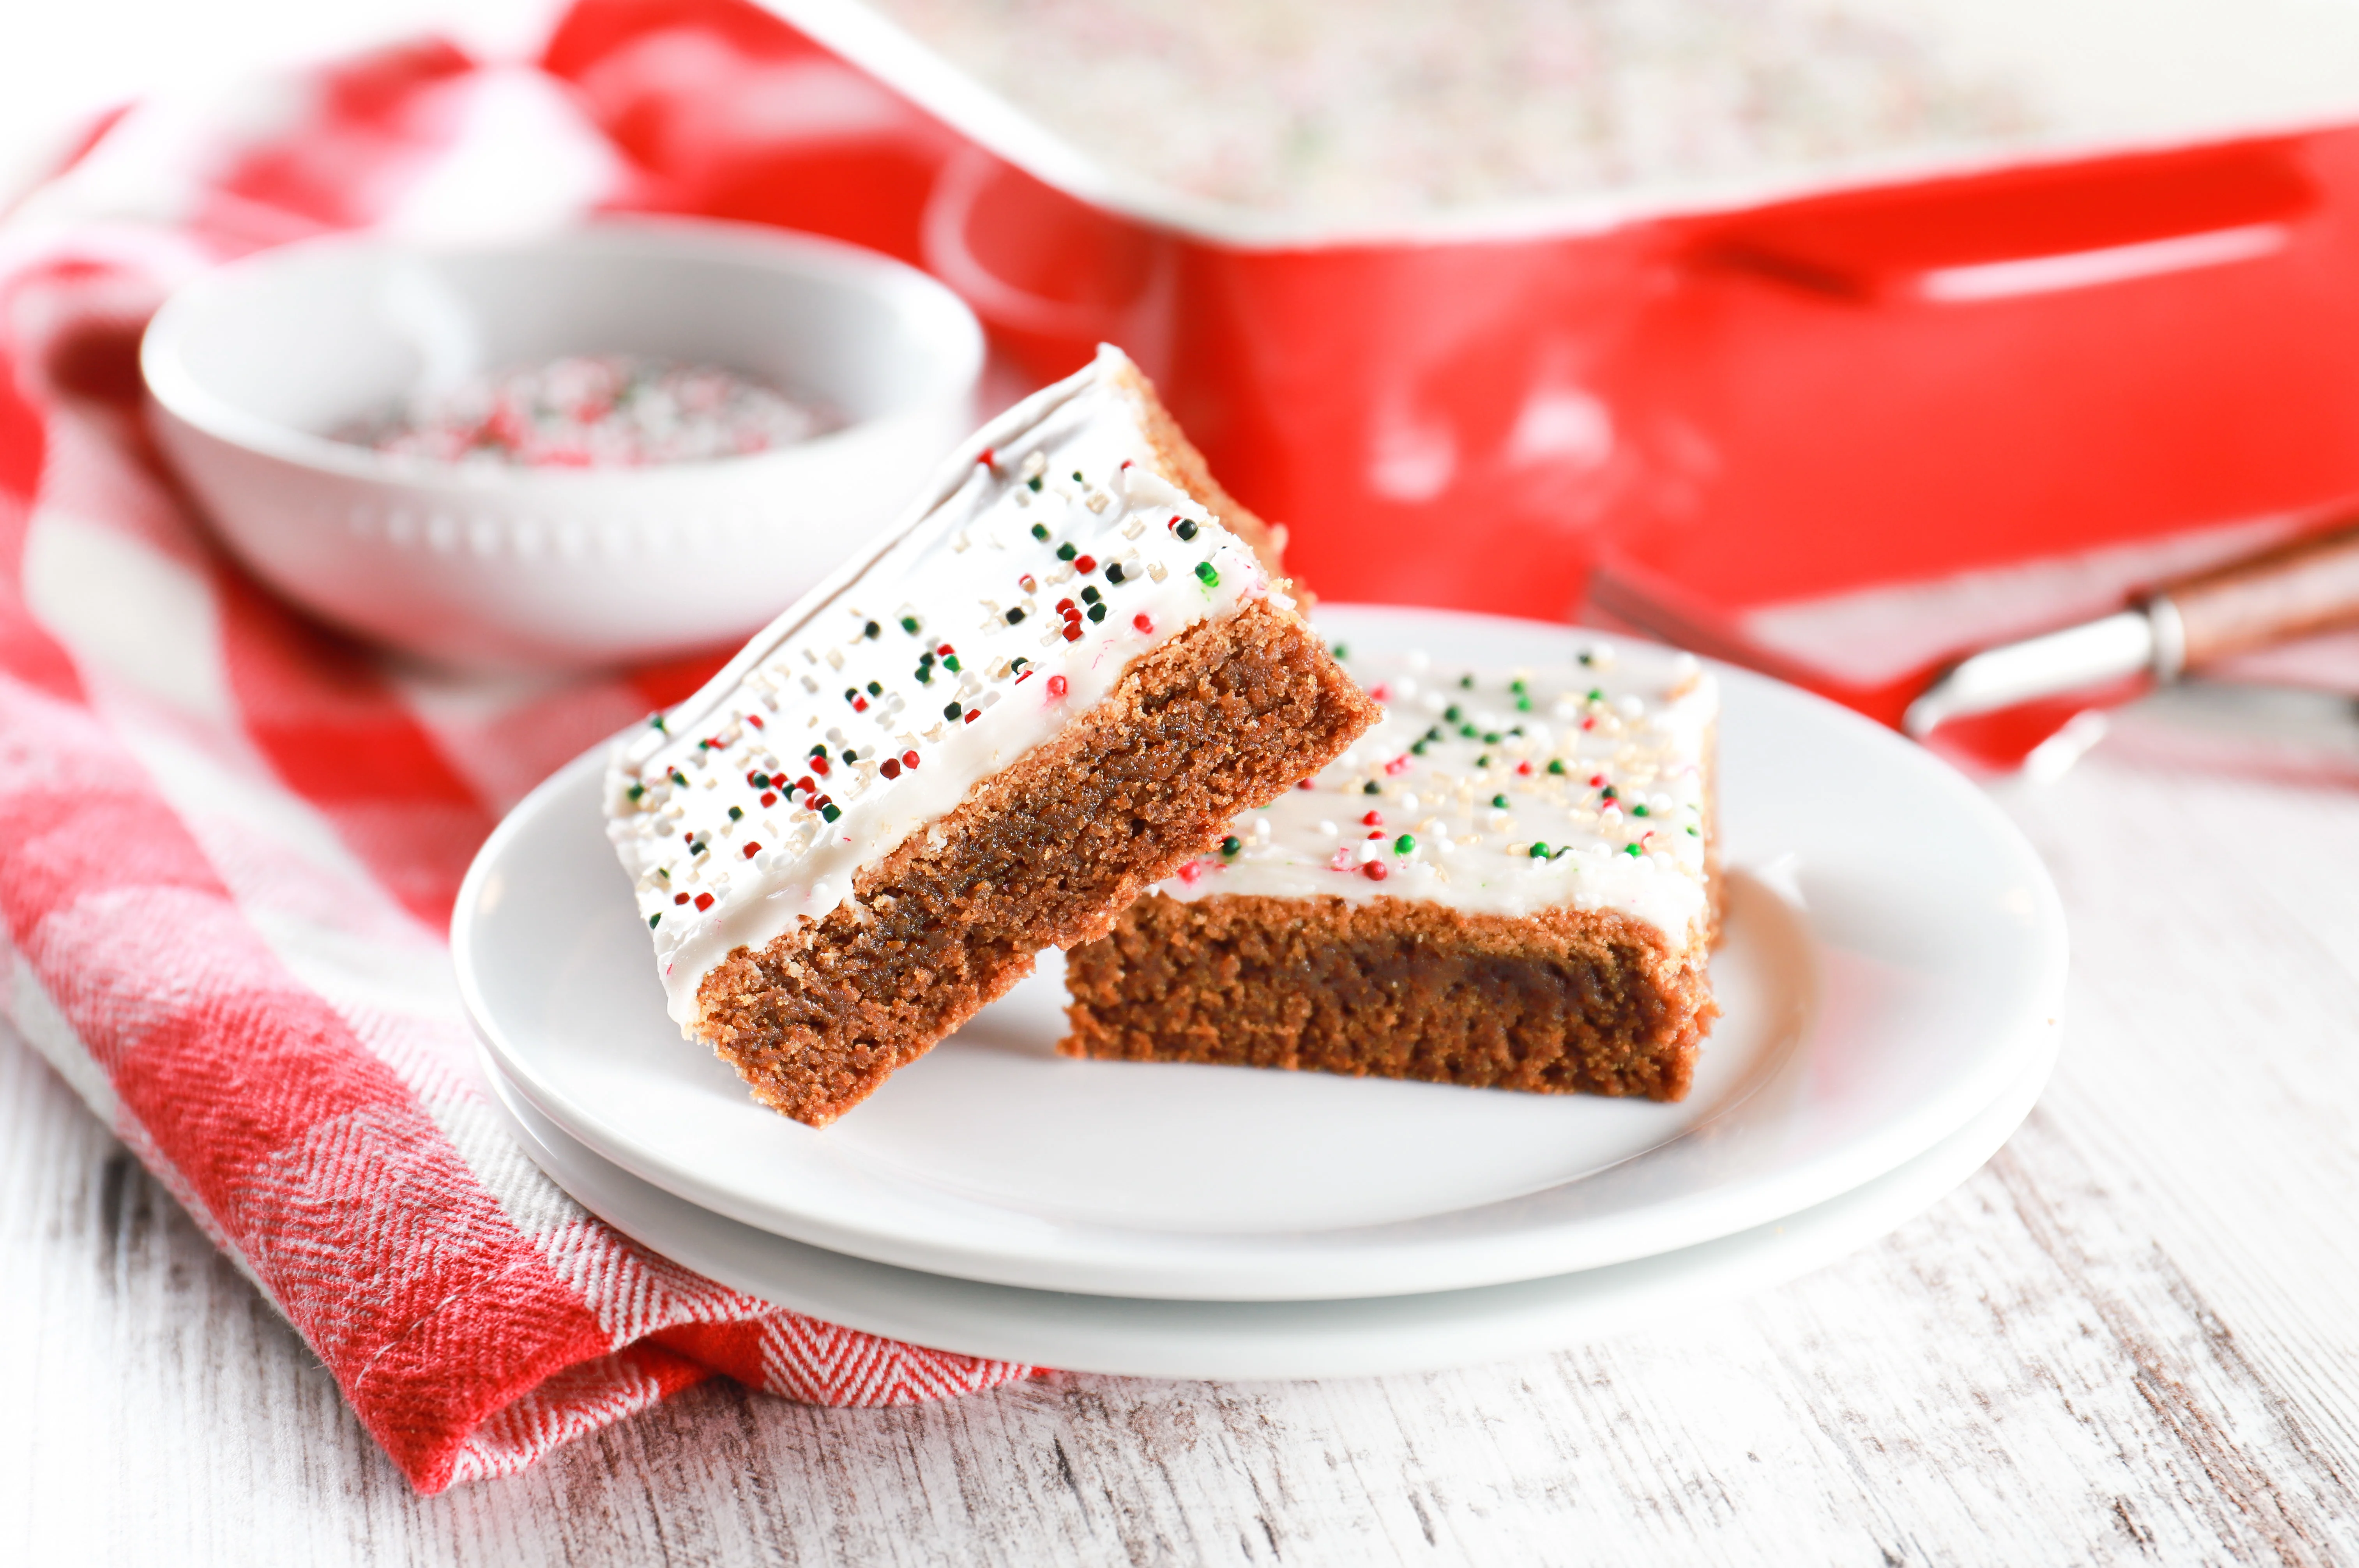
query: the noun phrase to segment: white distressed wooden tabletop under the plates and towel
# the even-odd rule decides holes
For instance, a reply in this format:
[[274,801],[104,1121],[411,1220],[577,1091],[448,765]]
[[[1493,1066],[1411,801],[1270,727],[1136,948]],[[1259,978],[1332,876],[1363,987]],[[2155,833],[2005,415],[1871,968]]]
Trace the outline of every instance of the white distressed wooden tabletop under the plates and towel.
[[0,1561],[2359,1561],[2359,747],[2147,714],[2000,797],[2071,913],[2064,1061],[1833,1269],[1430,1377],[715,1384],[429,1500],[0,1042]]

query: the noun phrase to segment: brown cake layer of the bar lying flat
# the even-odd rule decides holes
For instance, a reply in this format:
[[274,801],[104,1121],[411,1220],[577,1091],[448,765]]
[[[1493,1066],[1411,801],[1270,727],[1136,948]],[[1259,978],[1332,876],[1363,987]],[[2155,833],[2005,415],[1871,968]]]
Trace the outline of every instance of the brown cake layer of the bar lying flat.
[[1682,1099],[1720,1007],[1706,962],[1611,910],[1151,894],[1066,955],[1066,1056]]

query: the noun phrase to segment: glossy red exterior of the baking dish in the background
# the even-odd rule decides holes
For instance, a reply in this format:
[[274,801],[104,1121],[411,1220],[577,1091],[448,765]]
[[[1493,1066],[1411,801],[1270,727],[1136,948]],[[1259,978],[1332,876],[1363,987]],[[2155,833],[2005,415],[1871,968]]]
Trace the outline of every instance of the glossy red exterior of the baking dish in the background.
[[849,5],[587,0],[547,66],[644,205],[915,259],[1033,377],[1128,347],[1333,599],[1564,618],[1604,561],[1736,615],[2359,495],[2352,125],[1326,241]]

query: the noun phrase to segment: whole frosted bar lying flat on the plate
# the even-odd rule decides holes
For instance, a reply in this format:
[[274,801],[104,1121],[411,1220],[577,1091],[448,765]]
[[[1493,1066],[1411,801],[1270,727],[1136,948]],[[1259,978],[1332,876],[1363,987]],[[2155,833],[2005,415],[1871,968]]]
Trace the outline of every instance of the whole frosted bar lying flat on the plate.
[[1682,1099],[1717,1016],[1713,679],[1604,639],[1349,667],[1382,724],[1069,953],[1059,1049]]

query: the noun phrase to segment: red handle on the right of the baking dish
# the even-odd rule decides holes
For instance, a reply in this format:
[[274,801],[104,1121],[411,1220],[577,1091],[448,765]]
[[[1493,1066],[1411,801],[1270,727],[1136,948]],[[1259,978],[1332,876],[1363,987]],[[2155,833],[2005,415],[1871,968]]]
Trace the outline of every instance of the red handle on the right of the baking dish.
[[1816,198],[1701,257],[1854,302],[1970,304],[2248,262],[2319,189],[2288,141],[2243,141]]

